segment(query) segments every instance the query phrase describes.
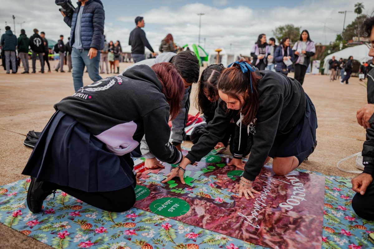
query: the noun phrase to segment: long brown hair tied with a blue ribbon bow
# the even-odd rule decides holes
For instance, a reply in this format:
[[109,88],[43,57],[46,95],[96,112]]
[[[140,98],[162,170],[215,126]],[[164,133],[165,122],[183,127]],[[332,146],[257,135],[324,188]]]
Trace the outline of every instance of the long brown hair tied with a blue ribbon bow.
[[[240,62],[247,62],[245,59],[240,59]],[[251,89],[251,78],[252,78],[252,89]],[[256,116],[258,111],[258,98],[259,94],[257,91],[258,82],[261,76],[257,72],[243,73],[239,64],[233,63],[229,68],[226,68],[220,78],[218,78],[217,88],[229,97],[239,100],[239,96],[243,96],[244,105],[240,103],[240,109],[242,109],[243,120],[242,122],[249,125]]]

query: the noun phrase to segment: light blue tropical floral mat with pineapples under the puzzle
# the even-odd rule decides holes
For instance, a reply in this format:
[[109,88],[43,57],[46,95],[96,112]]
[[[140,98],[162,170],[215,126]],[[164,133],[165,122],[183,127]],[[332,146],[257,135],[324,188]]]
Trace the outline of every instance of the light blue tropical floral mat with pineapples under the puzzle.
[[[325,177],[322,248],[374,248],[367,240],[374,222],[353,212],[349,180]],[[137,208],[102,211],[61,191],[47,197],[43,212],[33,214],[26,205],[29,184],[27,178],[0,187],[0,222],[53,248],[264,248]]]

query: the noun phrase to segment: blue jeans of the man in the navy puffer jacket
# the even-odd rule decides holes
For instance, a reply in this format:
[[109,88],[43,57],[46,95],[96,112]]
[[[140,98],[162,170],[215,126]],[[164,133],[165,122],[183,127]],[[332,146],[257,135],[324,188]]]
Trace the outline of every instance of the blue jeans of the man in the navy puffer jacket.
[[75,91],[83,87],[83,72],[85,66],[93,82],[102,79],[99,75],[100,51],[98,51],[96,57],[93,57],[91,60],[87,55],[88,50],[72,48],[71,64],[73,66],[73,84]]

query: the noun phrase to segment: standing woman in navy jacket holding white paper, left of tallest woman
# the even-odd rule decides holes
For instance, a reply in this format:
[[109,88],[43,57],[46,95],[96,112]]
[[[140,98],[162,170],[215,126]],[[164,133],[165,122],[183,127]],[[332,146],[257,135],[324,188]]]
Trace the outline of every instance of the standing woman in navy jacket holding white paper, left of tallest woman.
[[[294,60],[294,53],[289,46],[288,37],[282,38],[281,44],[275,49],[274,58],[276,63],[275,71],[288,75],[289,71],[291,71],[291,64],[289,63]],[[285,62],[289,63],[286,65]]]

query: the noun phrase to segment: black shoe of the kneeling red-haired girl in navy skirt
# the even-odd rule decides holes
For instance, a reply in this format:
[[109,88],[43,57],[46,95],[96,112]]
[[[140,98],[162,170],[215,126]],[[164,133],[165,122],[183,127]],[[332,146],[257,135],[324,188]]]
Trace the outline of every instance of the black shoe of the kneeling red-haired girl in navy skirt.
[[35,181],[35,177],[31,177],[30,186],[27,190],[27,206],[33,213],[39,213],[42,211],[43,201],[49,196],[50,194],[54,194],[55,191],[45,190],[46,183],[43,181]]

